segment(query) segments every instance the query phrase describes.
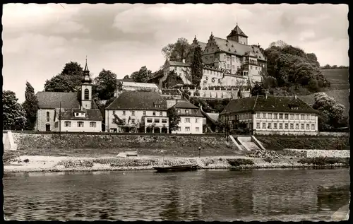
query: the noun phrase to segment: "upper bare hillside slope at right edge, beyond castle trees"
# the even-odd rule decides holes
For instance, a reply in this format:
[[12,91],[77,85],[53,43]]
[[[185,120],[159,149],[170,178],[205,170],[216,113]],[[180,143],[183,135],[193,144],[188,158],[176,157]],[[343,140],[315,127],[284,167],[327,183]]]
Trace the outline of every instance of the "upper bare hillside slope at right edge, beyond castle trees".
[[348,69],[321,69],[323,76],[331,83],[331,89],[349,89],[349,70]]

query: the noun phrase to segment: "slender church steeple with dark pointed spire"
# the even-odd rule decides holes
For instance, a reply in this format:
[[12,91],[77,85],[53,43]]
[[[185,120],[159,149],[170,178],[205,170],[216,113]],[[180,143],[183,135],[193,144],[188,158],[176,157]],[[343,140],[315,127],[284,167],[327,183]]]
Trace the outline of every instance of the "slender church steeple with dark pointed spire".
[[87,57],[81,84],[81,110],[92,109],[92,79],[87,66]]

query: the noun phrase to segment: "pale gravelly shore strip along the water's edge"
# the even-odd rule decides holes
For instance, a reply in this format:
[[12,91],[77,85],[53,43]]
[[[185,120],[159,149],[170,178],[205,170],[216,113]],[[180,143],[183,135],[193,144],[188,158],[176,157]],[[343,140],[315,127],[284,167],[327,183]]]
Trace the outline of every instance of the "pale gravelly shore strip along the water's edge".
[[[192,160],[192,161],[191,161]],[[65,172],[65,171],[104,171],[104,170],[152,170],[158,165],[182,165],[196,163],[199,169],[260,169],[290,167],[343,167],[345,160],[328,164],[311,163],[301,158],[280,156],[273,159],[254,158],[249,155],[173,157],[150,156],[116,158],[114,156],[42,156],[20,155],[4,164],[4,172]]]

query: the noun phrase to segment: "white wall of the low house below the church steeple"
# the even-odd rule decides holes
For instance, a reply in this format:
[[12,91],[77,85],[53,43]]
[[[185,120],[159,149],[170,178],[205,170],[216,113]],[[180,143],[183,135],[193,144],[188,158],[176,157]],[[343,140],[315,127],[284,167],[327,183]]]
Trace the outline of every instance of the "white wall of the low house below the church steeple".
[[[71,126],[65,126],[65,122],[71,122]],[[78,126],[78,122],[83,122],[83,127]],[[90,127],[90,122],[95,122],[95,127]],[[89,121],[89,120],[61,120],[60,131],[85,131],[85,132],[100,132],[102,131],[101,121]],[[59,125],[59,121],[58,121]],[[59,126],[54,128],[54,131],[59,131]]]

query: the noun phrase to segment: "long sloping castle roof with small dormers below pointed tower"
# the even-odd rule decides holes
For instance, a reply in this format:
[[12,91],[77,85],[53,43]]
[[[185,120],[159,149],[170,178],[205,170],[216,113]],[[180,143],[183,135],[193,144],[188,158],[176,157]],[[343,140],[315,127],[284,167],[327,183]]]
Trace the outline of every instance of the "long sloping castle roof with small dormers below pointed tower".
[[[229,54],[237,54],[244,56],[247,52],[253,52],[256,54],[257,59],[265,60],[265,56],[262,54],[261,49],[257,46],[241,45],[238,42],[232,40],[225,40],[220,37],[213,37],[220,51],[227,52]],[[229,51],[230,49],[230,51]]]

